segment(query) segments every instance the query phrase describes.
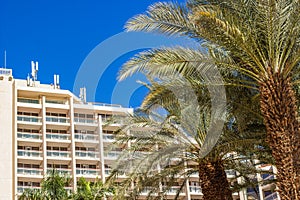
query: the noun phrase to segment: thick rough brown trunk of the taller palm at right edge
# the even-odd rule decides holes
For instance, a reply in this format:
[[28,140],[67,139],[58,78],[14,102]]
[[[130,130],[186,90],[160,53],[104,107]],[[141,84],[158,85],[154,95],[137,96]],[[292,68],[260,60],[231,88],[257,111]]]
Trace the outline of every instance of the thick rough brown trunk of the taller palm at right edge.
[[299,122],[296,95],[290,78],[269,74],[260,84],[261,112],[267,129],[267,142],[277,167],[281,200],[300,200]]

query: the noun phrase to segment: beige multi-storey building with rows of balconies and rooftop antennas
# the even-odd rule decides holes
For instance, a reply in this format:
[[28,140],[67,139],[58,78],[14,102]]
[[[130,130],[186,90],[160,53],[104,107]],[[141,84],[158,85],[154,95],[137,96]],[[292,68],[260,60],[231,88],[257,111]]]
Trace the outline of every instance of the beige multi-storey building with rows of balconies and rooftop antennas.
[[[55,168],[73,180],[84,177],[105,182],[121,149],[109,150],[119,122],[105,125],[113,115],[133,113],[118,105],[87,103],[54,84],[41,84],[32,78],[14,79],[11,69],[0,68],[0,199],[16,199],[26,188],[40,188],[48,170]],[[228,171],[234,179],[235,172]],[[119,178],[125,178],[120,175]],[[72,187],[66,190],[74,190]],[[168,191],[174,198],[179,186]],[[260,191],[263,191],[260,186]],[[251,192],[251,191],[250,191]],[[249,193],[249,191],[248,191]],[[147,190],[141,193],[146,198]],[[201,199],[197,174],[190,177],[180,199]],[[234,194],[248,199],[247,191]]]

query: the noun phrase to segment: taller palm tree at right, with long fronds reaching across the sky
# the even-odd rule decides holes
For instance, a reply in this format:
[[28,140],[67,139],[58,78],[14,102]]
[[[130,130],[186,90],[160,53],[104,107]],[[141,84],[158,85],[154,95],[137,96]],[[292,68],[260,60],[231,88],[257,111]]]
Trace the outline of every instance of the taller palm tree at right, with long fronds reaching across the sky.
[[[222,74],[236,77],[225,77],[227,84],[258,90],[281,199],[299,199],[300,132],[293,87],[299,77],[299,11],[297,0],[156,3],[129,20],[127,30],[191,37],[204,43],[209,54],[179,48],[148,51],[131,59],[120,78],[138,71],[189,77],[197,68],[214,64]],[[194,63],[201,64],[195,68]]]

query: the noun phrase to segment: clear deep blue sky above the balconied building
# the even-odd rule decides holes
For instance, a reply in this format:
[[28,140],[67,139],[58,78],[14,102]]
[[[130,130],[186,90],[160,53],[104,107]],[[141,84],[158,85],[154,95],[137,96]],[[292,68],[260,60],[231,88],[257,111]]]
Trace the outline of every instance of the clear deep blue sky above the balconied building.
[[[7,68],[15,78],[25,79],[30,61],[39,61],[42,83],[53,83],[59,74],[61,87],[72,90],[76,73],[86,56],[99,43],[123,31],[125,22],[143,13],[155,0],[0,0],[0,66],[4,50]],[[183,1],[182,1],[183,2]],[[113,48],[113,47],[111,47]],[[136,52],[120,55],[99,83],[96,101],[111,102],[116,73]],[[88,91],[87,91],[88,92]],[[145,89],[132,94],[130,106],[137,107]]]

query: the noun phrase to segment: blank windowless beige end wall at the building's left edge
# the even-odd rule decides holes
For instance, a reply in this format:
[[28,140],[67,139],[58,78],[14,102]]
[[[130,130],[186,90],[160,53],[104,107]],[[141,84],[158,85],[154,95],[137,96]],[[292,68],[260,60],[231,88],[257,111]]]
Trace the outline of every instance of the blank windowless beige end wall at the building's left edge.
[[13,199],[13,91],[12,77],[0,74],[1,200]]

